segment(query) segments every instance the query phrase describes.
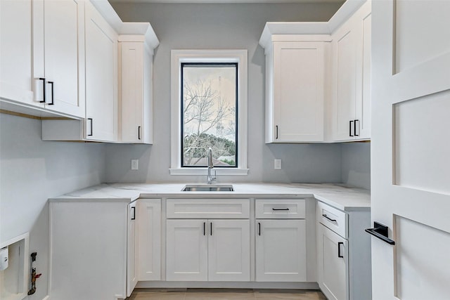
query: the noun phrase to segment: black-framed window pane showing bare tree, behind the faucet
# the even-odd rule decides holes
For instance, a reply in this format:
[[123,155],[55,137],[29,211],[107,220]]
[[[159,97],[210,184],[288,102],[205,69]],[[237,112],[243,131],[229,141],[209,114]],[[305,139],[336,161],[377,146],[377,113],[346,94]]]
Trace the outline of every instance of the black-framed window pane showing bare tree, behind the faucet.
[[237,63],[181,63],[181,167],[236,167]]

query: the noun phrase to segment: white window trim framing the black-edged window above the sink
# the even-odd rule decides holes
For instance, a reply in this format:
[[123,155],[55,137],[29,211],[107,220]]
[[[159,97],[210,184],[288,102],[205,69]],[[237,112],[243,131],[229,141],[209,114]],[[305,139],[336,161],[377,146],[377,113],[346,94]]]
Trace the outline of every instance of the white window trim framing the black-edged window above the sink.
[[248,175],[247,168],[247,50],[172,50],[171,53],[170,175],[205,175],[205,168],[181,167],[181,63],[238,63],[238,167],[216,168],[217,175]]

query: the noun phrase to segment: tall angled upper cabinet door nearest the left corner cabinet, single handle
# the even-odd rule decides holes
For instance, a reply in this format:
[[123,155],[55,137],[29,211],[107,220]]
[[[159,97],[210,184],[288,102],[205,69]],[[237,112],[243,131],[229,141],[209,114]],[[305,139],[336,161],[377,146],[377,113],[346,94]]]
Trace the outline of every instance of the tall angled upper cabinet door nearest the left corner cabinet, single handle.
[[86,139],[117,135],[117,34],[86,4]]

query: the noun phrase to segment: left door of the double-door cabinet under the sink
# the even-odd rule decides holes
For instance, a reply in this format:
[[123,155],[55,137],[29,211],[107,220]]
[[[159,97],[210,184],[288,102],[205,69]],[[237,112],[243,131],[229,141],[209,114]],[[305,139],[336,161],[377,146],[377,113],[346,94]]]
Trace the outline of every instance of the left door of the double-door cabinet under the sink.
[[167,220],[166,280],[207,281],[207,220]]

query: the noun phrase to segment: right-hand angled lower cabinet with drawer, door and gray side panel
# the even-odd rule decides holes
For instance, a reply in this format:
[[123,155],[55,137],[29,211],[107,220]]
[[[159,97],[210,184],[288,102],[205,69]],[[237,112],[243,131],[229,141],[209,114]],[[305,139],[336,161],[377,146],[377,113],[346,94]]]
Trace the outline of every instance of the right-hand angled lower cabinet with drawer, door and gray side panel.
[[372,299],[369,209],[341,211],[318,202],[318,283],[330,300]]

